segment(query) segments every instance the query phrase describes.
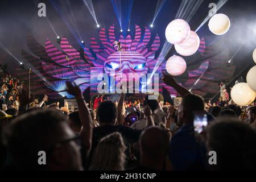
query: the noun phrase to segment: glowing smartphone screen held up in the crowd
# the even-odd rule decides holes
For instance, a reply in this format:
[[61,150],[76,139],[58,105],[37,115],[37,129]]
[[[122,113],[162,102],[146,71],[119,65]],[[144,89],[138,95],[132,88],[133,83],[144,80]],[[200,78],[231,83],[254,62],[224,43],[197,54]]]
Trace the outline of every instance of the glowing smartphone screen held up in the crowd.
[[194,114],[194,129],[195,133],[200,134],[208,125],[207,114],[195,113]]

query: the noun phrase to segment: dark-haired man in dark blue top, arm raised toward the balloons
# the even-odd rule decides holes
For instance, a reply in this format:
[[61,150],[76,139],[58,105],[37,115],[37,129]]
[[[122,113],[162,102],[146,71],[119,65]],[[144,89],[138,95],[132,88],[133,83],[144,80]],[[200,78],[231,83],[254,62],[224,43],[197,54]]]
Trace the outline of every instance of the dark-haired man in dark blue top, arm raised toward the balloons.
[[204,100],[177,84],[170,75],[164,75],[163,80],[183,97],[177,113],[177,122],[181,128],[169,145],[171,163],[175,170],[204,169],[205,148],[196,140],[193,127],[193,113],[204,111]]

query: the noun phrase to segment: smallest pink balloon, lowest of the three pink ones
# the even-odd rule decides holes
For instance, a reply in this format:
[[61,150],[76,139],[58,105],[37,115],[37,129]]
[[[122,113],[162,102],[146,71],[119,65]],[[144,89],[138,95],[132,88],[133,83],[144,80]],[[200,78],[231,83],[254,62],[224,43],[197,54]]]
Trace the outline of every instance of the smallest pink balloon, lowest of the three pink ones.
[[172,76],[181,75],[186,68],[186,61],[180,56],[171,56],[166,62],[166,71]]

